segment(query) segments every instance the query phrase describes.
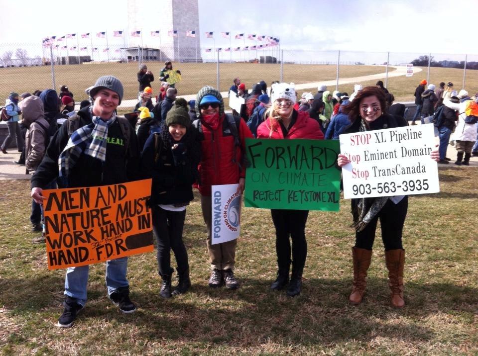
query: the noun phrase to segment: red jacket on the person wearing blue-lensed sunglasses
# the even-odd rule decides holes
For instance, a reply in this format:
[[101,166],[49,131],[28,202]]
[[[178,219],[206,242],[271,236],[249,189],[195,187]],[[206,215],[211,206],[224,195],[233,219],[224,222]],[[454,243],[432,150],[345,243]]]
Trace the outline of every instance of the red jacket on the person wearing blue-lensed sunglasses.
[[203,132],[198,185],[201,195],[211,195],[212,185],[235,184],[239,183],[239,178],[245,178],[245,167],[239,168],[242,159],[241,151],[245,153],[245,139],[252,138],[252,133],[245,121],[239,119],[238,133],[241,148],[235,144],[226,115],[219,119],[216,130],[211,131],[207,125],[201,123],[200,131]]

